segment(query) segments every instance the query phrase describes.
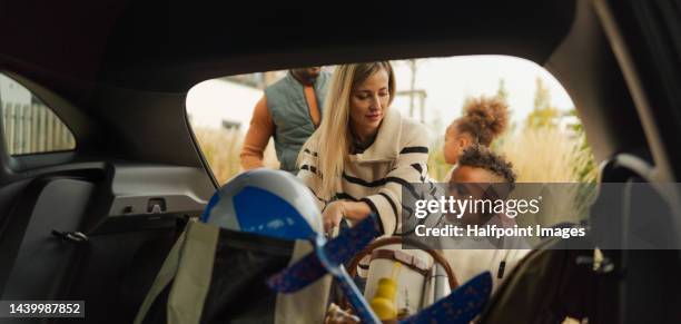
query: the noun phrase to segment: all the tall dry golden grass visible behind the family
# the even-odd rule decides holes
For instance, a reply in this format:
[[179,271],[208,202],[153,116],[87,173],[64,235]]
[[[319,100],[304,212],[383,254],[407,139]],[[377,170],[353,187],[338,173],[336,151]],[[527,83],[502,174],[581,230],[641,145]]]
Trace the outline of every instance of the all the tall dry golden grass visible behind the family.
[[[239,154],[244,144],[240,130],[200,128],[194,129],[201,151],[219,184],[243,171]],[[443,180],[451,166],[444,161],[443,140],[436,141],[428,156],[431,177]],[[561,183],[574,185],[535,186],[545,206],[539,224],[552,225],[560,222],[578,222],[583,218],[591,204],[589,187],[580,183],[593,183],[596,169],[591,151],[583,138],[557,128],[525,128],[509,132],[493,145],[494,150],[513,164],[519,183]],[[264,154],[266,167],[278,168],[274,145],[270,140]],[[524,193],[526,194],[526,193]]]

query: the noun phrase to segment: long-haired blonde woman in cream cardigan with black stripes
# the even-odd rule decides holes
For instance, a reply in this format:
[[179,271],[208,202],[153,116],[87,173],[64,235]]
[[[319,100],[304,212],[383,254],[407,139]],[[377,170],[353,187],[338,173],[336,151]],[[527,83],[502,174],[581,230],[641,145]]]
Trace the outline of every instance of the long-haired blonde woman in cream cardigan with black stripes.
[[298,177],[317,196],[326,230],[374,212],[385,235],[399,232],[403,186],[427,178],[427,129],[391,108],[394,98],[389,62],[336,68],[326,118],[298,156]]

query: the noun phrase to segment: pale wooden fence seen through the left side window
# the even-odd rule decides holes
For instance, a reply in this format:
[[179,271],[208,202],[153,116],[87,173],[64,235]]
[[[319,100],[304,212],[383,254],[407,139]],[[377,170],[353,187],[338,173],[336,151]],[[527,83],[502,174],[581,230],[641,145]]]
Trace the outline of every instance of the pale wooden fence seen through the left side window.
[[40,104],[3,102],[2,127],[10,155],[69,150],[76,147],[71,131],[51,109]]

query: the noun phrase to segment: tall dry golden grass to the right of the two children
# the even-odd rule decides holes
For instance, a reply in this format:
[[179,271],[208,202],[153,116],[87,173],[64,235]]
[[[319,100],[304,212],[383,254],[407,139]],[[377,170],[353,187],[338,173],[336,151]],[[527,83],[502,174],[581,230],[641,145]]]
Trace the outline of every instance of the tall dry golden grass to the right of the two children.
[[583,136],[556,127],[539,127],[500,138],[495,150],[513,164],[517,181],[536,184],[522,187],[535,193],[517,194],[543,199],[540,214],[527,215],[526,222],[555,225],[579,223],[586,217],[598,170]]

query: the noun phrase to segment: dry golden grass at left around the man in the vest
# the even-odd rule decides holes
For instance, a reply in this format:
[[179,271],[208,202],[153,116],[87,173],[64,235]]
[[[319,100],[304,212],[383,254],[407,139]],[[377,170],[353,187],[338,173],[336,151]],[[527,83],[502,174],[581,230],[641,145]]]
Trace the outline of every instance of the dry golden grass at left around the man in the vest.
[[[220,185],[243,171],[239,154],[244,146],[244,132],[238,129],[194,128],[196,139]],[[278,168],[279,163],[270,140],[264,153],[266,167]]]

